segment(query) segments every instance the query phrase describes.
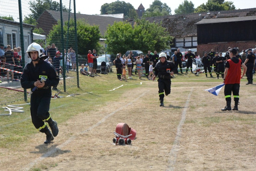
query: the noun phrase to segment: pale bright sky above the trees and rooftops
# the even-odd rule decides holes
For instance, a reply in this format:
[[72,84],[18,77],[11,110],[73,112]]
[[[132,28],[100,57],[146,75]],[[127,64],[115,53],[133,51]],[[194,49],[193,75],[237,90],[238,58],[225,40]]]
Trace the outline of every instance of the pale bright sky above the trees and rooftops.
[[[29,1],[35,0],[21,0],[22,2],[22,14],[23,18],[28,16],[31,11],[29,10]],[[59,0],[53,0],[59,2]],[[103,4],[111,2],[115,2],[116,0],[76,0],[76,11],[80,11],[81,14],[100,14],[100,8]],[[149,8],[149,5],[154,2],[154,0],[123,0],[126,3],[130,3],[133,5],[135,9],[138,9],[139,5],[142,3],[145,10]],[[172,14],[174,14],[174,10],[178,8],[178,6],[184,2],[184,0],[160,0],[162,3],[166,3],[172,10]],[[190,1],[190,0],[188,0]],[[194,4],[194,8],[197,8],[201,4],[205,4],[208,0],[191,0]],[[233,0],[233,4],[236,9],[245,9],[245,8],[256,8],[255,0]],[[73,9],[73,0],[71,0],[71,8]],[[62,0],[62,3],[65,4],[66,8],[69,8],[69,0]],[[251,5],[248,5],[251,4]],[[74,12],[74,11],[72,11]],[[0,16],[13,16],[14,20],[19,22],[19,7],[17,0],[0,0]]]

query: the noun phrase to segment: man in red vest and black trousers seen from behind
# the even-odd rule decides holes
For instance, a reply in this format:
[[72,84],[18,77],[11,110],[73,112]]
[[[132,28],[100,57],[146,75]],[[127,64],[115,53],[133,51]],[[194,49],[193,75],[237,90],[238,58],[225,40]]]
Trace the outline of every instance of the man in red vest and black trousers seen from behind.
[[[245,75],[247,67],[245,64],[238,58],[236,58],[237,50],[235,48],[230,49],[230,59],[227,60],[225,65],[225,72],[223,83],[225,84],[224,95],[226,98],[227,105],[221,111],[230,111],[231,110],[231,93],[233,93],[235,105],[232,110],[238,110],[239,102],[239,88],[240,80]],[[243,68],[243,74],[241,75],[241,67]]]

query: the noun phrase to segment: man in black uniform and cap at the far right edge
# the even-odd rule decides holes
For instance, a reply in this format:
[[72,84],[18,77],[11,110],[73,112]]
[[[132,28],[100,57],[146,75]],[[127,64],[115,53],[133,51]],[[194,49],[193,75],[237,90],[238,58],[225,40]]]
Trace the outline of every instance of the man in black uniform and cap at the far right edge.
[[247,77],[247,80],[248,82],[246,83],[246,85],[248,84],[252,84],[252,70],[253,70],[253,67],[254,67],[254,64],[255,64],[255,54],[253,54],[251,51],[252,49],[247,49],[246,51],[248,51],[248,55],[246,57],[246,60],[245,60],[245,65],[247,66],[247,71],[246,71],[246,77]]

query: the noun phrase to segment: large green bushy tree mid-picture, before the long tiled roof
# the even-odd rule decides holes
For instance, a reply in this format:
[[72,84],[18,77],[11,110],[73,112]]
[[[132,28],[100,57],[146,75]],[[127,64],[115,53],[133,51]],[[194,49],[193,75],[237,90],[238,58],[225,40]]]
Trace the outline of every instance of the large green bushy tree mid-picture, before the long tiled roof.
[[161,23],[150,23],[145,19],[136,19],[130,23],[118,22],[109,26],[105,34],[108,53],[125,53],[127,50],[139,49],[161,51],[169,47],[172,37],[161,26]]

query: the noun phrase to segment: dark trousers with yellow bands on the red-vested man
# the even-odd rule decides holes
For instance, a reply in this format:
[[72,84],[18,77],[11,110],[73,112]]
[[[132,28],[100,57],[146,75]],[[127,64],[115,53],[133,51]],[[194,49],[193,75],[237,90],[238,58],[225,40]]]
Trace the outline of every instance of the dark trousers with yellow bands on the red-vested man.
[[225,84],[224,95],[227,102],[231,102],[231,93],[233,92],[234,101],[239,101],[240,84]]

